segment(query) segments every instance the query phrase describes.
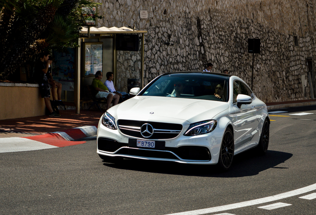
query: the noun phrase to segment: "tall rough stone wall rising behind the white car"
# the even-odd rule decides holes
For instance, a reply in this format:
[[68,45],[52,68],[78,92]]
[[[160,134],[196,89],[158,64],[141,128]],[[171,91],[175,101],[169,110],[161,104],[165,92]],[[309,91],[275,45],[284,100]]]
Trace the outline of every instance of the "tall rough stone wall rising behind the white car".
[[[144,82],[175,71],[228,69],[251,87],[248,38],[254,54],[253,91],[264,102],[311,99],[307,58],[315,62],[316,0],[99,0],[98,27],[136,27],[145,34]],[[139,11],[147,10],[148,19]],[[295,37],[297,44],[295,45]],[[118,88],[140,78],[140,52],[118,52]],[[313,82],[315,74],[311,73]],[[316,87],[316,86],[314,86]]]

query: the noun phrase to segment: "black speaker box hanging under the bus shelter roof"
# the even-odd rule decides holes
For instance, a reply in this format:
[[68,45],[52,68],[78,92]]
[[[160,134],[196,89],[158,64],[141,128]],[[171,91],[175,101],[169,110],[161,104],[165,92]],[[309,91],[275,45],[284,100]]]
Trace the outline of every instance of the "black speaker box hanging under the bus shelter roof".
[[115,48],[118,51],[139,51],[139,35],[116,34]]

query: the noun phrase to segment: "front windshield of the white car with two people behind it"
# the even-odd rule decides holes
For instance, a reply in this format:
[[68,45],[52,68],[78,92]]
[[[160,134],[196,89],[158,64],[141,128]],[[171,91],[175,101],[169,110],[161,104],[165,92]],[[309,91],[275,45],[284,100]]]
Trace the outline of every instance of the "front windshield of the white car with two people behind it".
[[166,74],[147,86],[139,96],[228,101],[229,77],[209,73]]

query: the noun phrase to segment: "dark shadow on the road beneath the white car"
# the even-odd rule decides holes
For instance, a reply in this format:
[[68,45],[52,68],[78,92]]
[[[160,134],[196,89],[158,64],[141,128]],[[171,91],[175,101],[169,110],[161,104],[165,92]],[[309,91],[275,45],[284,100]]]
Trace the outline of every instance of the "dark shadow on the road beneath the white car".
[[257,175],[270,168],[278,168],[276,166],[290,159],[292,155],[286,152],[268,151],[263,156],[257,156],[254,150],[249,150],[234,157],[233,166],[228,172],[222,172],[214,165],[186,165],[143,160],[124,159],[116,164],[104,163],[103,165],[118,169],[172,175],[237,178]]

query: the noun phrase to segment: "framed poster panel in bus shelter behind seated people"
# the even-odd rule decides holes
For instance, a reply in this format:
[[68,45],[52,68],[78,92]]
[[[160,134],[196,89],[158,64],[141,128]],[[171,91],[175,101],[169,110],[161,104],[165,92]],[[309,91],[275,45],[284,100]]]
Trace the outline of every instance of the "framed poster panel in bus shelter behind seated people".
[[84,43],[84,76],[102,71],[103,42]]

